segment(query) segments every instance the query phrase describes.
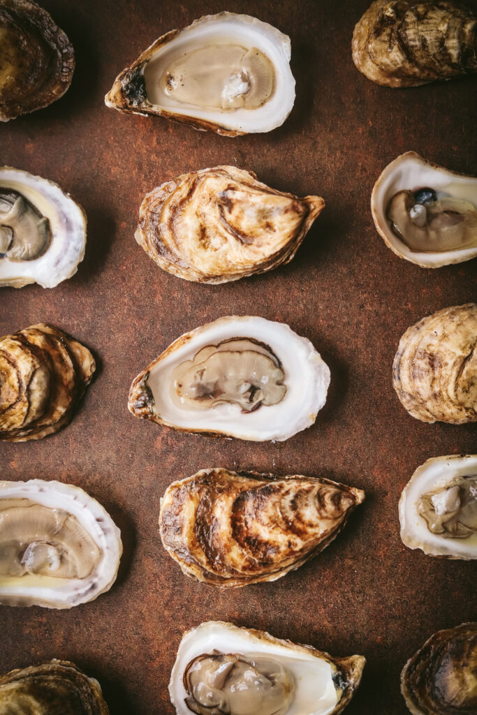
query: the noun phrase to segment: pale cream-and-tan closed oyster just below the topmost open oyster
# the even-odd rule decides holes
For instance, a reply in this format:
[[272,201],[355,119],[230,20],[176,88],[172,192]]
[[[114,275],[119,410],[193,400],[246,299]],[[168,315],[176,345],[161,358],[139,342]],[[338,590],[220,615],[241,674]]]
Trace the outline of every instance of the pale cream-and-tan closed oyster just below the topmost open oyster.
[[213,167],[146,194],[135,237],[169,273],[224,283],[290,262],[324,207],[319,196],[270,189],[253,172]]

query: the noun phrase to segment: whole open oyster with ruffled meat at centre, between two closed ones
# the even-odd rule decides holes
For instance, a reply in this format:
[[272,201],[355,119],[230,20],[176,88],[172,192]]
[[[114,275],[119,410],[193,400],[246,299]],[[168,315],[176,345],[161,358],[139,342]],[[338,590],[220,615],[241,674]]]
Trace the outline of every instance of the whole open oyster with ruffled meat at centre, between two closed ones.
[[185,432],[286,440],[315,422],[330,370],[305,337],[227,316],[177,338],[129,391],[136,417]]

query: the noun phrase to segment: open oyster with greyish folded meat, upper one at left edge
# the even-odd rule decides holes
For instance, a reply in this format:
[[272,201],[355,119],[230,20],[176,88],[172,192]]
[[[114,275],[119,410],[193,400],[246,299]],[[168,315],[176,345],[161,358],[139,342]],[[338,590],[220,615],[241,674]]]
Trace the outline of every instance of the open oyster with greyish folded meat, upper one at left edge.
[[0,287],[71,278],[84,257],[86,215],[56,184],[0,167]]

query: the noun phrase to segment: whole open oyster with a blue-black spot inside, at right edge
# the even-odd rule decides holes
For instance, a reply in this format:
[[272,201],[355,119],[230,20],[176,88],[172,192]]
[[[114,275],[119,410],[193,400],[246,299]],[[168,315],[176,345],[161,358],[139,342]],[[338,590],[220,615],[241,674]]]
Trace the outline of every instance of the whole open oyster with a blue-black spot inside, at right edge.
[[477,178],[406,152],[373,188],[371,210],[385,244],[423,268],[477,256]]

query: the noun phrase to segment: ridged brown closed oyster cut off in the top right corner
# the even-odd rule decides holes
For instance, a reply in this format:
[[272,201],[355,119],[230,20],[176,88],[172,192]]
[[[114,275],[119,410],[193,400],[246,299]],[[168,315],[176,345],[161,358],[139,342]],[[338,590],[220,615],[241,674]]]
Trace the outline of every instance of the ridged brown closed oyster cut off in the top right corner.
[[452,2],[375,0],[355,26],[353,61],[385,87],[477,71],[477,18]]

